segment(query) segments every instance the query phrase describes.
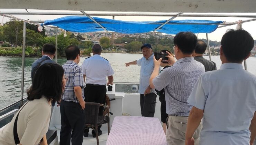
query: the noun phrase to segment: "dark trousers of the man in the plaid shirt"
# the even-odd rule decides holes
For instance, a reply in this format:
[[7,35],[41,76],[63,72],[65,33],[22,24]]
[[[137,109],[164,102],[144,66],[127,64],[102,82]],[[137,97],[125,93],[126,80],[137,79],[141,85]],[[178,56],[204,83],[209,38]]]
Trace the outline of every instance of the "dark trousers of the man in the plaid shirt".
[[60,145],[82,145],[85,124],[85,110],[79,103],[61,101]]

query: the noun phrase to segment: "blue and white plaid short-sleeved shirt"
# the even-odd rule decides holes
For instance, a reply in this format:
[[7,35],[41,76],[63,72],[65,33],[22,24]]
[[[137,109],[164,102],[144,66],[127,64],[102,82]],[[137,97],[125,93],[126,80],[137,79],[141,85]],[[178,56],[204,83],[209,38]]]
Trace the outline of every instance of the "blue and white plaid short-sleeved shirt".
[[65,71],[64,75],[68,77],[65,91],[62,95],[62,100],[79,103],[77,97],[75,96],[74,87],[80,86],[82,88],[82,97],[84,99],[84,80],[82,68],[72,60],[67,60],[66,64],[64,64],[62,67]]

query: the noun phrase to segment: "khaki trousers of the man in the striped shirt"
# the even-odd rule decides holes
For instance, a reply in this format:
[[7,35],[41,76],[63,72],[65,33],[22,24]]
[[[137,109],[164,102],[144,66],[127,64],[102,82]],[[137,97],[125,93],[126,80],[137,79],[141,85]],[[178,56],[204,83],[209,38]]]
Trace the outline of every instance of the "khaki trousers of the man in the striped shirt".
[[[168,116],[166,121],[166,142],[168,145],[184,145],[185,133],[187,128],[187,122],[189,117],[183,116]],[[199,144],[199,135],[202,129],[202,122],[196,129],[193,138],[195,139],[195,145]]]

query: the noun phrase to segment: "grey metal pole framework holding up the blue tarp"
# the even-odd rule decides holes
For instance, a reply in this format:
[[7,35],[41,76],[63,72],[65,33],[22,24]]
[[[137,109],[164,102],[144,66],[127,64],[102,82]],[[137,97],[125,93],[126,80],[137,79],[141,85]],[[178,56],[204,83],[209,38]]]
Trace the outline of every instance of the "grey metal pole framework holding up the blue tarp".
[[[201,24],[201,25],[223,25],[223,26],[219,26],[218,28],[223,28],[223,27],[227,27],[227,26],[231,26],[231,25],[236,25],[238,23],[245,23],[245,22],[250,22],[250,21],[256,21],[256,15],[235,15],[235,14],[184,14],[182,12],[177,13],[177,14],[150,14],[150,13],[89,13],[89,12],[84,12],[84,11],[80,11],[81,13],[76,13],[76,12],[71,12],[71,13],[65,13],[65,12],[0,12],[0,15],[4,15],[4,17],[8,17],[11,19],[16,19],[16,20],[21,20],[24,21],[23,23],[23,45],[22,45],[22,74],[21,74],[21,106],[23,105],[23,93],[24,93],[24,68],[25,68],[25,43],[26,43],[26,23],[31,23],[34,25],[40,25],[39,22],[44,22],[44,21],[29,21],[29,20],[24,20],[24,19],[20,19],[14,16],[11,16],[12,14],[22,14],[22,15],[76,15],[76,16],[87,16],[88,18],[90,18],[93,22],[97,23],[97,25],[99,25],[102,29],[104,29],[106,32],[109,32],[106,28],[104,28],[100,23],[98,23],[97,21],[95,21],[90,15],[93,16],[158,16],[158,17],[165,17],[165,16],[171,16],[172,18],[170,18],[169,20],[167,20],[164,23],[153,23],[153,24],[161,24],[161,26],[157,27],[152,33],[157,32],[158,29],[160,29],[161,27],[163,27],[164,25],[175,25],[175,24],[180,24],[180,23],[169,23],[171,20],[177,18],[177,17],[247,17],[247,18],[253,18],[253,19],[249,19],[249,20],[244,20],[244,21],[236,21],[236,22],[224,22],[224,23],[181,23],[181,24]],[[8,14],[10,16],[8,16]],[[56,62],[57,62],[57,28],[55,26],[47,26],[47,27],[51,27],[51,28],[56,28],[56,38],[55,38],[55,47],[56,47]],[[115,32],[113,32],[115,33]],[[208,50],[209,50],[209,58],[211,60],[211,52],[210,52],[210,43],[209,43],[209,38],[208,38],[208,33],[206,33],[206,37],[207,37],[207,42],[208,42]],[[247,70],[247,64],[246,61],[244,61],[244,65],[245,65],[245,69]],[[8,107],[11,107],[13,105],[9,105]],[[3,109],[0,109],[0,112],[2,112],[3,110],[6,110],[6,107]]]

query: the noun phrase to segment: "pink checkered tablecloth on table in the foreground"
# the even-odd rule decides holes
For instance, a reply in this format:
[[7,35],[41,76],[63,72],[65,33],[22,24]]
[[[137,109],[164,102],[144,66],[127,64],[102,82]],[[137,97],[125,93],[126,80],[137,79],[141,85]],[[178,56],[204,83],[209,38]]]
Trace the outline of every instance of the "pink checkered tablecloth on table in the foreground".
[[167,145],[158,118],[117,116],[106,145]]

